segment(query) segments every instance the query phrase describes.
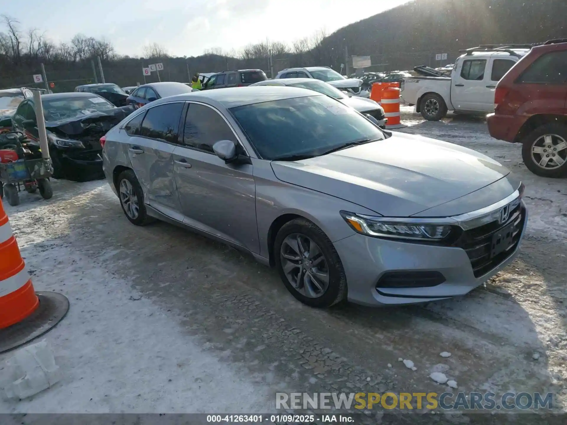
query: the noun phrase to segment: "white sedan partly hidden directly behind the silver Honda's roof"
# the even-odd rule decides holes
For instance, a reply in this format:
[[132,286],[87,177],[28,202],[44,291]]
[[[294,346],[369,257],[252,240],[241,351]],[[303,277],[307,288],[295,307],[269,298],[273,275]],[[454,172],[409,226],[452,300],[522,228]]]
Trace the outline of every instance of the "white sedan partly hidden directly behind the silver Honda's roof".
[[307,88],[308,90],[315,90],[316,92],[322,93],[327,96],[331,96],[333,99],[337,99],[340,103],[343,103],[356,111],[370,115],[374,118],[375,124],[378,124],[380,128],[386,128],[386,114],[384,113],[384,108],[382,108],[378,103],[372,99],[366,99],[365,97],[350,96],[331,86],[331,84],[325,83],[321,80],[316,80],[313,78],[282,78],[277,80],[265,80],[258,83],[251,84],[250,87],[255,86],[291,86],[291,87],[301,87]]

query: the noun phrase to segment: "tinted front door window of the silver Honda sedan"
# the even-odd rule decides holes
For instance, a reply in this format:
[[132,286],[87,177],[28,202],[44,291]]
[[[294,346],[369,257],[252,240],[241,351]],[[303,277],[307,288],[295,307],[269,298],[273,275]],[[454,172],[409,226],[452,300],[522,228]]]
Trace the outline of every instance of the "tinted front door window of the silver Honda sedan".
[[184,145],[213,153],[213,145],[219,140],[236,142],[226,121],[212,108],[190,104],[185,116]]

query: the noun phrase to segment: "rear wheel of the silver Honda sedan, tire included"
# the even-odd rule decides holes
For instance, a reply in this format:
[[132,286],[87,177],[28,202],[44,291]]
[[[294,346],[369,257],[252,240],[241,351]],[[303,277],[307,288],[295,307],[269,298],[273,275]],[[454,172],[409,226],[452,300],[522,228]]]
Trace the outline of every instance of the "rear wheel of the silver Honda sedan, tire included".
[[133,170],[128,169],[120,173],[116,189],[122,211],[124,211],[124,215],[130,223],[136,224],[136,226],[146,226],[146,224],[154,221],[147,215],[146,206],[143,202],[142,186]]

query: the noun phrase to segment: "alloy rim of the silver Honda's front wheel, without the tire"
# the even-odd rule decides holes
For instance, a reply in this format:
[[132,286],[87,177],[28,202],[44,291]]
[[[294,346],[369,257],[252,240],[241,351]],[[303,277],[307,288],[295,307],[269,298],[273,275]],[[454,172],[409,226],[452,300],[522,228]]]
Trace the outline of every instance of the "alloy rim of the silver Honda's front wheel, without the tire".
[[310,237],[292,233],[281,245],[282,269],[291,286],[308,298],[319,298],[329,286],[327,258]]

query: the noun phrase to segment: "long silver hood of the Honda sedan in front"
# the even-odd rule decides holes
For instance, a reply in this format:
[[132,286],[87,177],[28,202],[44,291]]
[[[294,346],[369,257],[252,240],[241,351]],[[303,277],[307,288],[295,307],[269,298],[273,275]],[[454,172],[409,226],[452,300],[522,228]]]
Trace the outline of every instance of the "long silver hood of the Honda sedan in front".
[[281,181],[392,217],[418,214],[510,173],[468,148],[403,133],[312,159],[272,162],[272,169]]

